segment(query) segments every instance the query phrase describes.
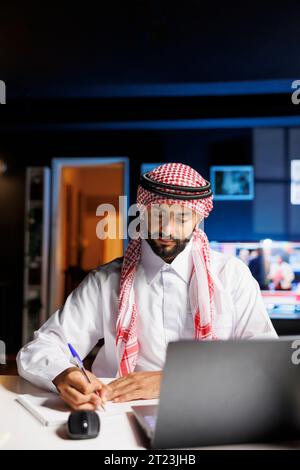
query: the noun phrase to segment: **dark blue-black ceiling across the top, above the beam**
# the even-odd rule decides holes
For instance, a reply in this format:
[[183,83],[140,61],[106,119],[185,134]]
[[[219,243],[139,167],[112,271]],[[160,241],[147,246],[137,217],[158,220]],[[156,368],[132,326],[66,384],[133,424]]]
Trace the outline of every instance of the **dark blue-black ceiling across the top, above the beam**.
[[111,0],[98,8],[2,0],[8,93],[101,83],[298,78],[298,2]]

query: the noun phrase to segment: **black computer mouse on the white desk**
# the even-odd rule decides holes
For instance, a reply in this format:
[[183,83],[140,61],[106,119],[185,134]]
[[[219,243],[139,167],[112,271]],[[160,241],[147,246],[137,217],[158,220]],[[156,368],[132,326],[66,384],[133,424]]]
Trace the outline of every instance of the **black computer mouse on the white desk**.
[[73,411],[68,419],[68,435],[71,439],[92,439],[100,431],[100,419],[95,411]]

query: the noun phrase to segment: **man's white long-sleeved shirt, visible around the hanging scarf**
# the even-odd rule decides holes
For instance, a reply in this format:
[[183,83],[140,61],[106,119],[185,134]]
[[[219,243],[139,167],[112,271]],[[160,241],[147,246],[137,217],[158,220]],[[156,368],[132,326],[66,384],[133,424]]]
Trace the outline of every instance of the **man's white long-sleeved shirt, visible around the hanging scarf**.
[[[139,355],[135,370],[163,368],[169,341],[194,336],[188,286],[192,242],[170,264],[143,240],[135,277]],[[122,258],[91,271],[34,334],[18,354],[18,371],[25,379],[56,391],[52,380],[72,367],[67,343],[84,358],[104,339],[93,363],[98,377],[115,377],[116,320]],[[259,286],[248,267],[234,257],[211,250],[214,280],[214,330],[219,339],[276,338]]]

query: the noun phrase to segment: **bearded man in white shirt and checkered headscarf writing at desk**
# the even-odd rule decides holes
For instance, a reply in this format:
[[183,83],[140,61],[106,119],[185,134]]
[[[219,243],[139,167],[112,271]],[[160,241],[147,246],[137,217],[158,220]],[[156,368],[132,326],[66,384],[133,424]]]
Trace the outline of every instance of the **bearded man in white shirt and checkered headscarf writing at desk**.
[[[20,375],[58,390],[73,409],[158,397],[169,341],[277,336],[248,267],[210,250],[198,228],[212,210],[198,172],[155,168],[141,176],[137,203],[141,236],[124,259],[89,273],[18,354]],[[85,357],[100,338],[88,384],[67,343]],[[109,386],[97,379],[116,376]]]

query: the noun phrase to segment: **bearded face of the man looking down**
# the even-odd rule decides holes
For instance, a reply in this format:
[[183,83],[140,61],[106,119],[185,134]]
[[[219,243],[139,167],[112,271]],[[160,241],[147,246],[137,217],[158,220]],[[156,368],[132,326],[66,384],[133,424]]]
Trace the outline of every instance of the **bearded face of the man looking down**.
[[201,220],[199,214],[179,204],[152,204],[144,220],[147,242],[154,253],[171,263],[184,250]]

